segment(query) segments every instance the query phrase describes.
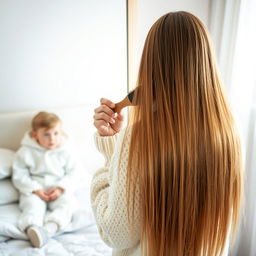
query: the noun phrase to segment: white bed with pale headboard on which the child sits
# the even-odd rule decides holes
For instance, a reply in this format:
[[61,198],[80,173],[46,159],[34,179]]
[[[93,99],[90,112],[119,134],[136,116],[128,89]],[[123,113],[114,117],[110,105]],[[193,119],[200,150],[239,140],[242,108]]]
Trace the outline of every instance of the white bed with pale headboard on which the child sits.
[[104,161],[94,147],[93,108],[86,105],[44,110],[59,115],[69,135],[78,166],[74,184],[77,207],[65,232],[56,234],[42,248],[31,247],[26,234],[16,226],[19,195],[10,180],[10,166],[31,118],[40,110],[0,113],[0,256],[111,255],[98,234],[89,200],[92,174]]

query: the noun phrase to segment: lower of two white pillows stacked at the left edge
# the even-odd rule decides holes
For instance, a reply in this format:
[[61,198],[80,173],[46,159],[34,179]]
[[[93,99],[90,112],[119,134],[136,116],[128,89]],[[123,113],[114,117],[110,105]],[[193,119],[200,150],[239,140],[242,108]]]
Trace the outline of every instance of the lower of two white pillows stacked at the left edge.
[[0,205],[17,202],[19,192],[10,179],[0,180]]

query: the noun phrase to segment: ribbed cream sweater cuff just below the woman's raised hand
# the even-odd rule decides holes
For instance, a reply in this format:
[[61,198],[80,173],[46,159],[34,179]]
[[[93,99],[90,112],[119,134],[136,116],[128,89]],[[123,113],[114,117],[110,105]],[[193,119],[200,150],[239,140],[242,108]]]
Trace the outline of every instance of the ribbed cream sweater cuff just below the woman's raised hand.
[[116,140],[117,140],[118,134],[115,134],[113,136],[101,136],[98,132],[94,134],[94,142],[99,150],[106,159],[110,159],[115,148]]

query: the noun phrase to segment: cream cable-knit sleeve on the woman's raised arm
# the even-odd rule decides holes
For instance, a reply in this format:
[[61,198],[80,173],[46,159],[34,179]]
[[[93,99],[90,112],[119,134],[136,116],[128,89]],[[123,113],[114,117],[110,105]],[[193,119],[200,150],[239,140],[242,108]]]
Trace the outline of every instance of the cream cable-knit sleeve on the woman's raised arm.
[[126,169],[130,130],[128,128],[122,131],[118,138],[95,136],[96,146],[104,154],[106,164],[95,173],[91,184],[91,203],[99,233],[105,243],[115,249],[114,251],[123,252],[136,248],[140,237],[138,186],[134,195],[132,227],[129,227],[127,213]]

